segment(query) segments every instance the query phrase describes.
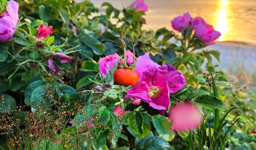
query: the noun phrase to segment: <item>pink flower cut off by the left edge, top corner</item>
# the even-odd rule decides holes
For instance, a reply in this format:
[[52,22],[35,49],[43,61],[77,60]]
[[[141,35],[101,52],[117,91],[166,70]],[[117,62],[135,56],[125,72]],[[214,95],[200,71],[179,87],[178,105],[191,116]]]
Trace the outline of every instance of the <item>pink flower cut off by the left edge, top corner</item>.
[[13,36],[16,31],[13,29],[17,26],[19,17],[18,17],[19,4],[13,0],[8,2],[7,12],[1,15],[0,18],[0,40],[8,41]]

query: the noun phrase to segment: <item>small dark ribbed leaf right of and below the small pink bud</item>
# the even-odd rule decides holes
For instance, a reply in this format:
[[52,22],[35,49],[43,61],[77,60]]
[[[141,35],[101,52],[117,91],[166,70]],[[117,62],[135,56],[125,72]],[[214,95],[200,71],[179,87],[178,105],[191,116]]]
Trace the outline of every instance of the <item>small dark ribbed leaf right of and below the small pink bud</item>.
[[132,114],[127,118],[129,128],[137,135],[143,134],[143,116],[141,112]]

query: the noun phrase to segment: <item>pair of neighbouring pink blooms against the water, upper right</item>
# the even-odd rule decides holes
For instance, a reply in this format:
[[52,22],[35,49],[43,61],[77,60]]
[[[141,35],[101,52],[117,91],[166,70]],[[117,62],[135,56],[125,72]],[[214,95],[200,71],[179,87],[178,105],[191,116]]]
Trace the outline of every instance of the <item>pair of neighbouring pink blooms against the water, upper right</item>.
[[215,44],[215,40],[221,36],[221,33],[214,30],[213,26],[207,24],[203,18],[192,18],[189,13],[184,13],[183,16],[178,16],[171,21],[175,31],[182,31],[193,27],[195,36],[197,36],[204,45]]

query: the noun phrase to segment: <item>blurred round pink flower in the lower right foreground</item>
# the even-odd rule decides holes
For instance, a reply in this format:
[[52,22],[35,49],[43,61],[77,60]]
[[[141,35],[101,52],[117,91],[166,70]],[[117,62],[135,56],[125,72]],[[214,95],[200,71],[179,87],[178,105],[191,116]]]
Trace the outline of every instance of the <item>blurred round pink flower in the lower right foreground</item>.
[[202,114],[196,107],[189,103],[173,106],[169,113],[172,128],[175,130],[193,130],[199,126],[202,121]]

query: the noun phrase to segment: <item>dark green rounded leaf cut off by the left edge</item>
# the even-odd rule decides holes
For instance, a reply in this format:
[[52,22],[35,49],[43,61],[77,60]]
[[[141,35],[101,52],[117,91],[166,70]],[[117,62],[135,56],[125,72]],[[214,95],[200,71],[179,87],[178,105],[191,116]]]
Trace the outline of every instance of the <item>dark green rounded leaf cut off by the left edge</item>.
[[7,94],[0,93],[0,111],[10,113],[16,107],[16,101],[13,97]]

